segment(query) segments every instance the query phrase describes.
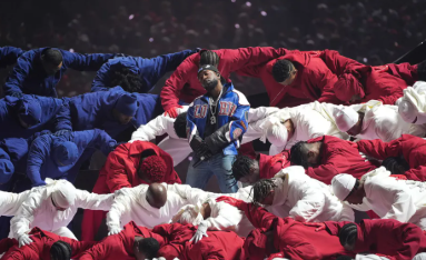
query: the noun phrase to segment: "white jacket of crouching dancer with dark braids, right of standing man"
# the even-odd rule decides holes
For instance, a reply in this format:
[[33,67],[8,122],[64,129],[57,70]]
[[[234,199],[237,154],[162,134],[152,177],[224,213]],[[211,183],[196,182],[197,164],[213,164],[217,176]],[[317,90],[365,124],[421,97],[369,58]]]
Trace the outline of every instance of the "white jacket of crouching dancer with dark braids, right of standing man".
[[274,178],[278,186],[271,206],[271,213],[291,217],[300,222],[354,221],[354,211],[331,193],[329,186],[305,174],[299,166],[283,169]]

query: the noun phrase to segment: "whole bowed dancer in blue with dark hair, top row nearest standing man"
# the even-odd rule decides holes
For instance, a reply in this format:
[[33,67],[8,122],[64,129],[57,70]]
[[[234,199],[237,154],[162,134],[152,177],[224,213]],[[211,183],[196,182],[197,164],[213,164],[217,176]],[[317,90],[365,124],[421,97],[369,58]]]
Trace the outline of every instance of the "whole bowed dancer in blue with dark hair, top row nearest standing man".
[[98,70],[91,91],[108,90],[120,86],[128,92],[149,92],[157,81],[176,68],[197,50],[184,50],[158,56],[151,59],[141,57],[120,57],[108,60]]

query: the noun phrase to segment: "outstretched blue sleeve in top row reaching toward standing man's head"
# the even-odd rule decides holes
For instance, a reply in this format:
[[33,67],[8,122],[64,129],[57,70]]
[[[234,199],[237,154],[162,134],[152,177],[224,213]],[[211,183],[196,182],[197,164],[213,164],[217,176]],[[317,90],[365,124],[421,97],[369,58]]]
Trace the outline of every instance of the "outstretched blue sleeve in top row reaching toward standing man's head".
[[155,84],[167,72],[176,70],[179,64],[188,57],[194,54],[194,50],[184,50],[175,53],[158,56],[151,59],[143,59],[143,68],[152,68],[149,81]]

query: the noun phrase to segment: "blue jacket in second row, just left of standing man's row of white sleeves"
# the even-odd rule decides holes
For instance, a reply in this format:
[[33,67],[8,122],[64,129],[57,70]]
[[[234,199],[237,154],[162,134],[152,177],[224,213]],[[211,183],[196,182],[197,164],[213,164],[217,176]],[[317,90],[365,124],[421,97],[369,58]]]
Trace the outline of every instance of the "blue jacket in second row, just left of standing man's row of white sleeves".
[[137,96],[138,110],[135,117],[127,124],[120,124],[112,117],[112,109],[118,99],[128,92],[121,87],[111,88],[108,91],[85,93],[73,98],[67,98],[68,113],[72,122],[67,123],[61,129],[81,131],[93,128],[105,130],[109,136],[116,138],[128,128],[138,129],[141,124],[164,112],[160,97],[149,93],[133,93]]

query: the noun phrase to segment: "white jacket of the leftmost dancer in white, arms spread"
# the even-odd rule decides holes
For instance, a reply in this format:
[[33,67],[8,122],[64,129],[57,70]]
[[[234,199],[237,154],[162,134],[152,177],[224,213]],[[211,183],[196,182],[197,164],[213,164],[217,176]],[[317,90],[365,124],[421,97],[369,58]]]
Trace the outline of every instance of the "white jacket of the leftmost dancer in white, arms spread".
[[[67,180],[46,179],[46,186],[33,188],[11,220],[11,234],[18,239],[32,228],[56,232],[67,227],[76,216],[79,208],[90,210],[109,210],[113,194],[96,194],[76,189],[73,204],[65,211],[58,211],[51,200],[51,194],[61,188]],[[62,233],[61,233],[62,234]],[[72,238],[72,237],[71,237]]]

